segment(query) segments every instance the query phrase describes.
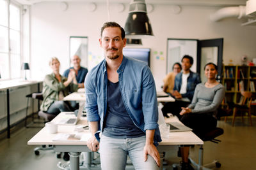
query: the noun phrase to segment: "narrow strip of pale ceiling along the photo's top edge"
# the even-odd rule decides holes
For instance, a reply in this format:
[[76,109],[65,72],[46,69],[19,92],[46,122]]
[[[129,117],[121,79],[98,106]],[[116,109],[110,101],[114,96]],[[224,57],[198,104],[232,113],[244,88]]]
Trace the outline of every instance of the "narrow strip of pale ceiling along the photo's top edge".
[[[33,5],[42,2],[84,2],[84,3],[130,3],[131,0],[15,0],[20,4]],[[146,0],[148,4],[176,4],[196,6],[237,6],[245,5],[247,0]]]

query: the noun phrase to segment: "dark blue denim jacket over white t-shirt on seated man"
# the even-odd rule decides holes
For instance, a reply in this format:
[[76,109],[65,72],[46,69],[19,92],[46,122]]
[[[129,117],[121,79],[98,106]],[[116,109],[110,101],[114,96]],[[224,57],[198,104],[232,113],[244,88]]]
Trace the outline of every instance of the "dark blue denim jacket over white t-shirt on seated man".
[[[188,97],[190,101],[192,101],[193,95],[196,89],[196,85],[198,83],[201,83],[201,78],[199,74],[190,71],[190,74],[188,76],[188,81],[187,81],[187,92],[186,94],[182,94],[181,96]],[[182,72],[180,72],[175,76],[175,83],[174,83],[173,90],[177,90],[179,92],[181,84],[182,84]]]

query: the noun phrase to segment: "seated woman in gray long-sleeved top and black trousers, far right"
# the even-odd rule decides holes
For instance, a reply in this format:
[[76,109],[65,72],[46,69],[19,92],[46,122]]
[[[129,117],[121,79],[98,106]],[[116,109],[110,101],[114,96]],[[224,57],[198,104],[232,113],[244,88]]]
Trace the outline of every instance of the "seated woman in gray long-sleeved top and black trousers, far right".
[[[207,81],[196,85],[191,104],[180,111],[180,121],[193,129],[199,138],[216,127],[216,111],[225,96],[225,87],[216,81],[217,70],[217,66],[212,62],[205,65]],[[182,164],[188,164],[189,146],[180,149]]]

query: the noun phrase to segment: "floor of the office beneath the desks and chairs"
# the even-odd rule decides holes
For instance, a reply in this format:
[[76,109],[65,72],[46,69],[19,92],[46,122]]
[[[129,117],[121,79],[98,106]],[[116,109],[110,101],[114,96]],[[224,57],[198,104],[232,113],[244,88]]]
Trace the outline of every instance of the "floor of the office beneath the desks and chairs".
[[[204,163],[209,163],[214,159],[221,162],[220,170],[234,169],[256,169],[256,117],[253,117],[253,126],[250,127],[247,118],[244,124],[241,118],[236,119],[235,127],[231,125],[231,118],[228,122],[218,121],[218,127],[224,129],[224,134],[218,139],[221,143],[205,142]],[[40,128],[25,128],[18,125],[12,129],[10,139],[6,139],[6,134],[0,137],[0,169],[3,170],[45,170],[59,169],[58,162],[65,163],[63,159],[57,159],[56,153],[52,150],[40,152],[36,156],[33,149],[35,146],[28,146],[27,142]],[[198,160],[198,146],[191,148],[191,158]],[[179,163],[180,158],[177,152],[166,152],[165,157],[168,166],[172,169],[173,163]]]

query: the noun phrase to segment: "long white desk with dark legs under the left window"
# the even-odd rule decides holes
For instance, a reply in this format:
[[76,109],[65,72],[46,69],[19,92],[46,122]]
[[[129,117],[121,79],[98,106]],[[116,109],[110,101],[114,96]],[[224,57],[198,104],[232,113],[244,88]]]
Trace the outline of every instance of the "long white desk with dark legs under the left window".
[[6,101],[7,101],[7,138],[10,138],[10,97],[9,90],[15,87],[22,87],[27,85],[37,84],[38,91],[40,90],[40,83],[42,81],[31,81],[31,80],[8,80],[8,81],[0,81],[0,91],[6,90]]

